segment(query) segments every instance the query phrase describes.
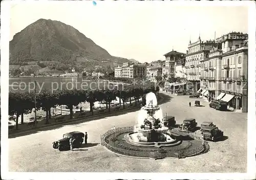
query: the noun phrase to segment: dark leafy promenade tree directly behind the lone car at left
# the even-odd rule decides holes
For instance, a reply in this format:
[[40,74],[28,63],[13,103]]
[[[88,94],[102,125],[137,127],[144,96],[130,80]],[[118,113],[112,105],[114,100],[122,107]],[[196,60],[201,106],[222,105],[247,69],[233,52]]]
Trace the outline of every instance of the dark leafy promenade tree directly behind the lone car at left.
[[83,93],[78,89],[63,89],[59,91],[58,105],[67,105],[70,110],[70,119],[73,118],[73,106],[77,106],[80,102],[86,101]]

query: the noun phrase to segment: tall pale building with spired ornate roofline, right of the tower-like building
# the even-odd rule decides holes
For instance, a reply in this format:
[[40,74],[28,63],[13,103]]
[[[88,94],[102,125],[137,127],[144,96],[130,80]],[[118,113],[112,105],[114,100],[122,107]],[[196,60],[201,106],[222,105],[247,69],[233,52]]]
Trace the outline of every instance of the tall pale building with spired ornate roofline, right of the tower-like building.
[[204,59],[209,51],[216,45],[214,40],[203,42],[199,36],[194,43],[189,41],[188,51],[186,54],[186,78],[187,81],[193,83],[193,91],[198,91],[200,88],[201,64],[200,60]]

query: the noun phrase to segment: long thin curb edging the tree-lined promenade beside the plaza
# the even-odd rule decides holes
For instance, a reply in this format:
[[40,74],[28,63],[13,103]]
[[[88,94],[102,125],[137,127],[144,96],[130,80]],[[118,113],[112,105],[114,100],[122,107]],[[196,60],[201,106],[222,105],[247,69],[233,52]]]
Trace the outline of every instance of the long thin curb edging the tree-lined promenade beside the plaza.
[[[160,96],[160,98],[158,100],[158,103],[160,103],[162,101],[163,101],[163,98]],[[44,126],[34,127],[34,128],[31,128],[31,129],[24,129],[24,130],[8,133],[8,137],[10,138],[12,136],[16,136],[16,135],[22,134],[22,133],[32,132],[32,131],[36,131],[36,130],[40,130],[40,129],[46,129],[48,127],[55,127],[55,126],[59,126],[59,125],[72,124],[74,122],[79,122],[79,121],[86,122],[86,121],[90,121],[90,119],[93,119],[93,118],[104,117],[105,115],[118,114],[118,113],[121,113],[121,112],[124,112],[124,111],[127,111],[127,110],[133,110],[133,109],[137,109],[137,108],[140,108],[140,106],[136,106],[136,107],[132,107],[132,108],[126,108],[126,109],[121,109],[121,110],[118,110],[118,111],[111,111],[110,113],[108,112],[108,113],[104,113],[104,114],[99,114],[99,115],[94,115],[94,116],[89,116],[89,117],[84,117],[84,118],[73,119],[73,120],[70,120],[70,121],[68,120],[68,121],[58,122],[58,123],[54,123],[54,124],[47,124],[47,125],[44,125]]]

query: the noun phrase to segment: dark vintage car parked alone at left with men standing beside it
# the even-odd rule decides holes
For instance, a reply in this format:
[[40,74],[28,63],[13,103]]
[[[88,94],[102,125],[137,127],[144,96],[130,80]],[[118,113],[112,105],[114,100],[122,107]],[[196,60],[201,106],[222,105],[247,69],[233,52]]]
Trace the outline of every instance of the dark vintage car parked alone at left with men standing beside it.
[[83,143],[84,133],[79,131],[73,131],[73,132],[68,132],[63,134],[63,138],[58,141],[54,141],[52,143],[53,144],[52,147],[54,149],[59,149],[60,151],[69,150],[70,149],[69,140],[71,139],[71,137],[75,138],[75,141],[73,142],[73,147],[74,148],[81,147],[81,144]]

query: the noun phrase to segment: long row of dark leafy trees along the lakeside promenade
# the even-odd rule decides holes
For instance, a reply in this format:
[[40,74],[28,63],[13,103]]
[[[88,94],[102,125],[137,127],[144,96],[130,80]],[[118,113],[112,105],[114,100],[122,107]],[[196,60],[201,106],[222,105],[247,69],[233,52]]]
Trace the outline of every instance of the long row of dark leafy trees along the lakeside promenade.
[[[129,101],[130,104],[132,98],[136,101],[142,97],[144,102],[144,95],[149,92],[157,93],[159,87],[155,87],[154,83],[148,82],[146,85],[142,84],[127,84],[119,86],[112,86],[108,89],[63,89],[61,91],[57,90],[51,92],[50,89],[43,89],[39,93],[35,92],[9,92],[9,115],[16,115],[16,129],[18,129],[18,119],[22,118],[21,122],[24,123],[23,116],[24,114],[30,114],[32,109],[44,110],[46,111],[46,124],[49,123],[51,118],[51,108],[56,107],[57,105],[66,105],[70,109],[70,118],[73,117],[73,106],[77,106],[81,102],[90,103],[90,112],[93,115],[93,105],[94,102],[99,101],[106,104],[106,108],[110,111],[110,104],[113,100],[116,100],[116,97],[119,97],[124,102]],[[36,103],[35,103],[36,98]],[[121,101],[120,101],[121,102]]]

